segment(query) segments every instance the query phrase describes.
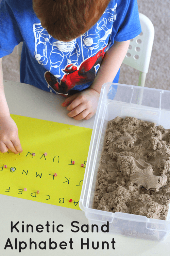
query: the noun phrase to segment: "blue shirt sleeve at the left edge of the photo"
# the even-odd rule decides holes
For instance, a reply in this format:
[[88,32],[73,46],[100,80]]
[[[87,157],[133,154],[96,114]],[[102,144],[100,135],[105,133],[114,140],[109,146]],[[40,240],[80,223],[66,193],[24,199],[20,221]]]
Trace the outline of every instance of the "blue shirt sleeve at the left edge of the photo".
[[8,4],[11,0],[0,3],[0,58],[13,52],[14,47],[23,41],[14,13]]

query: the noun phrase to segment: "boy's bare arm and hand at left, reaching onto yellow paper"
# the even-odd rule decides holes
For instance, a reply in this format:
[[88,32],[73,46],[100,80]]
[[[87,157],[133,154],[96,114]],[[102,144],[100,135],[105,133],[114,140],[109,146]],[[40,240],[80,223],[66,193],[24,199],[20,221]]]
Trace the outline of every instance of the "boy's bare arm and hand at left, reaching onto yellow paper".
[[15,154],[22,152],[18,138],[18,128],[10,116],[10,111],[5,98],[2,58],[0,58],[0,152],[5,153],[8,149]]

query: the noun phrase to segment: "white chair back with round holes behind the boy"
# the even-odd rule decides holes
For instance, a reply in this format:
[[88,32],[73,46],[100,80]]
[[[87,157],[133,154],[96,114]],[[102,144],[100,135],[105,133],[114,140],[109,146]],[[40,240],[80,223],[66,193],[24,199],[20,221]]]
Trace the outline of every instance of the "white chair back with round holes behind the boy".
[[151,20],[147,16],[139,13],[139,19],[142,32],[134,39],[131,39],[128,52],[122,63],[139,70],[138,85],[145,86],[155,31]]

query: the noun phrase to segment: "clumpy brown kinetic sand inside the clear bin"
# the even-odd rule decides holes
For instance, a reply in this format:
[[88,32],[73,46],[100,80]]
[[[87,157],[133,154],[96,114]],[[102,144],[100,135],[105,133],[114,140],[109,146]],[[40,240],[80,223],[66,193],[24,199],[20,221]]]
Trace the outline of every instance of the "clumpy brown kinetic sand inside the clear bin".
[[170,129],[134,117],[108,122],[94,209],[166,220],[170,203]]

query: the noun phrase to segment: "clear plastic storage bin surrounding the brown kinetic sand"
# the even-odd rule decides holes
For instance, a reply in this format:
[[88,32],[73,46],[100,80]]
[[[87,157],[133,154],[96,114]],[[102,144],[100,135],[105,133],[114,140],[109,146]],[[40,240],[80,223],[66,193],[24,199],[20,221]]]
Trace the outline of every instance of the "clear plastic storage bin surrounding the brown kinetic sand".
[[170,232],[170,208],[166,221],[92,209],[107,123],[116,116],[132,116],[170,129],[170,91],[115,83],[102,86],[79,206],[85,212],[89,225],[97,224],[99,230],[108,221],[109,233],[162,241]]

